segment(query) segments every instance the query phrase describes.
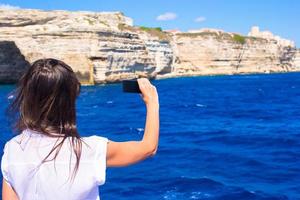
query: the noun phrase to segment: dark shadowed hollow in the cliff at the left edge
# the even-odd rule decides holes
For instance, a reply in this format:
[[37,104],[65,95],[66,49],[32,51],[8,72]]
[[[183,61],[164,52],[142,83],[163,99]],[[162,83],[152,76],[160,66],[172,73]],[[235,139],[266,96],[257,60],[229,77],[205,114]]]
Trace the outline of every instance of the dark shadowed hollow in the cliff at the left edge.
[[16,83],[30,66],[13,41],[0,41],[0,83]]

